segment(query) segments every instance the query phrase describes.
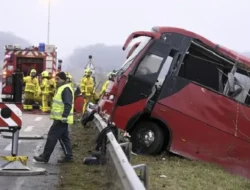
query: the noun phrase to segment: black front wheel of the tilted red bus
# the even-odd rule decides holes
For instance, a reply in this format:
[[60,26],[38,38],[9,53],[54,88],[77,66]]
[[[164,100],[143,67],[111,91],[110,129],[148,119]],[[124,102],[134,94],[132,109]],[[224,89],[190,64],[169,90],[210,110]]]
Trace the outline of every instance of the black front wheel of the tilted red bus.
[[142,121],[132,130],[131,141],[137,154],[158,154],[164,145],[164,132],[156,123]]

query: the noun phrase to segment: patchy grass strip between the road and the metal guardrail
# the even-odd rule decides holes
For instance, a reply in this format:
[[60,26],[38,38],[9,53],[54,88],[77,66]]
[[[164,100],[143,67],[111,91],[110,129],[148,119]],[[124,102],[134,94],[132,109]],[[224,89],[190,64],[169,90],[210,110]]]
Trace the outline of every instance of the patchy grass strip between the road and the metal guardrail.
[[83,158],[90,156],[94,145],[96,131],[74,125],[71,129],[71,140],[74,163],[60,167],[60,190],[96,190],[108,189],[105,166],[84,165]]

